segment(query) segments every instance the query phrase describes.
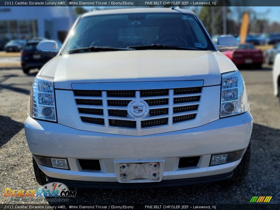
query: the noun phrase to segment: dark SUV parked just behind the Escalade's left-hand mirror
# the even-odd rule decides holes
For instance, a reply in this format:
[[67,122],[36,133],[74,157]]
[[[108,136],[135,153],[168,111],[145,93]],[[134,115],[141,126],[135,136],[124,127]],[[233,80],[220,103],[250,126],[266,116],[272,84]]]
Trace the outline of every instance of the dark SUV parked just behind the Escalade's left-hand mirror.
[[[37,46],[41,41],[28,41],[21,52],[21,67],[24,74],[28,74],[30,69],[41,69],[41,67],[52,59],[53,55],[42,55],[37,50]],[[62,44],[57,43],[60,49]]]

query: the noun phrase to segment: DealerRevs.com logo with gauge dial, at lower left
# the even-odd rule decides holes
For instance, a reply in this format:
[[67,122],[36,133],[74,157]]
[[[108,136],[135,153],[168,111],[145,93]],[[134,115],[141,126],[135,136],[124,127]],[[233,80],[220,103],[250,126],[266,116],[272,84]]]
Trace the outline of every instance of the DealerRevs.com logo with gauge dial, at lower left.
[[13,202],[18,201],[41,201],[43,198],[54,201],[68,201],[68,197],[76,197],[76,190],[69,190],[66,185],[59,182],[52,182],[37,190],[17,190],[11,188],[5,188],[4,196],[11,197]]

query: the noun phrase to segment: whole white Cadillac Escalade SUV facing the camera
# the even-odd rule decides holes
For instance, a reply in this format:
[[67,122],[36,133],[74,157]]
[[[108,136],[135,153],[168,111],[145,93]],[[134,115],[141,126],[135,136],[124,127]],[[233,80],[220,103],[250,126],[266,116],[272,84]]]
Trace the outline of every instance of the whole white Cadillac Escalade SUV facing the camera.
[[244,81],[191,11],[82,15],[36,76],[25,134],[38,183],[140,188],[241,180],[252,116]]

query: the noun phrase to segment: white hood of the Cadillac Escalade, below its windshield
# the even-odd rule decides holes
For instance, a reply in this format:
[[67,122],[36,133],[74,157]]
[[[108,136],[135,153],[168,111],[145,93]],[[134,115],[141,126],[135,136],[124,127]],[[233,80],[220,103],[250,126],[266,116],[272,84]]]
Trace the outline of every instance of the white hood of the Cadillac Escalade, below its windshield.
[[219,52],[127,50],[76,53],[54,57],[39,75],[54,77],[55,88],[71,83],[204,80],[220,85],[221,73],[237,70]]

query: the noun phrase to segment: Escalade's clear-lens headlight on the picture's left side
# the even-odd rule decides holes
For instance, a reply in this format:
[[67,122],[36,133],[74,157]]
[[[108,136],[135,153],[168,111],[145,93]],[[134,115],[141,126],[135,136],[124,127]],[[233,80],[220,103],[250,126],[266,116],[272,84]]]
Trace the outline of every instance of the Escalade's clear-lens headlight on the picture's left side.
[[56,121],[53,78],[37,76],[30,97],[30,115],[41,120]]

